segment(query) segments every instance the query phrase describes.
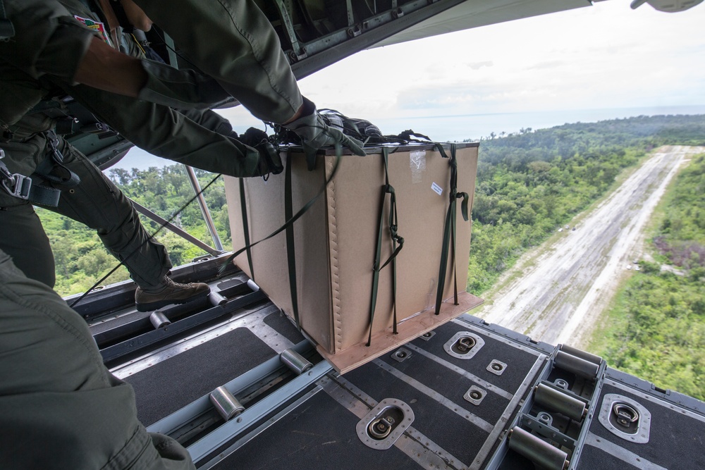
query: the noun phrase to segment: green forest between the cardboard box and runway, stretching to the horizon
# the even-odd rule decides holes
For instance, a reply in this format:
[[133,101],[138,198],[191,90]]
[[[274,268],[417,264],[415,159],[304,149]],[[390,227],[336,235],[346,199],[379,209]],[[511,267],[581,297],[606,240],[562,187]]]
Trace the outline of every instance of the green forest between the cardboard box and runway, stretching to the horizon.
[[703,144],[705,116],[639,116],[494,137],[479,148],[467,281],[474,295],[606,194],[647,151]]

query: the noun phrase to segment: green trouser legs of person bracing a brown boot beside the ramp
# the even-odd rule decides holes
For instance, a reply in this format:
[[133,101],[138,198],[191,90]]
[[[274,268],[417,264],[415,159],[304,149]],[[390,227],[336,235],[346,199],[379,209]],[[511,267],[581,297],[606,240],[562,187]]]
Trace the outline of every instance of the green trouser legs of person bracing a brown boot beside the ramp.
[[[32,118],[39,120],[39,116]],[[44,122],[53,123],[49,119]],[[47,135],[32,132],[25,137],[17,129],[15,134],[13,141],[0,143],[6,153],[4,161],[13,173],[32,174],[37,165],[50,159]],[[78,175],[80,184],[61,192],[59,206],[46,208],[96,230],[108,251],[125,261],[137,285],[159,285],[171,269],[164,245],[149,239],[132,203],[97,166],[66,140],[59,139],[58,148],[63,165]],[[27,276],[54,287],[54,256],[32,204],[0,191],[0,226],[0,249],[10,254]]]

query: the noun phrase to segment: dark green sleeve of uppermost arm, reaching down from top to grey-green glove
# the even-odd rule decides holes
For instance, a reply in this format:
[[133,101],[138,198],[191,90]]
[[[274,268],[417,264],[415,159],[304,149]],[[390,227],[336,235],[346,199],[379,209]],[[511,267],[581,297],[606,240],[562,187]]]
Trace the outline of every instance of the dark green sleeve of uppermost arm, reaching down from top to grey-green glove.
[[255,117],[289,120],[303,103],[264,13],[252,0],[135,0],[188,59]]

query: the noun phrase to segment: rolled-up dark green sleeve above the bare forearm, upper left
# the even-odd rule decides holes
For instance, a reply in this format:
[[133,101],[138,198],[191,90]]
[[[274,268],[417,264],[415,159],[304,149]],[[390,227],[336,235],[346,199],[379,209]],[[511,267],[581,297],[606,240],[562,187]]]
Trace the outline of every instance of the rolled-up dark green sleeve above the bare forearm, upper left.
[[46,73],[72,82],[93,33],[58,1],[4,0],[4,5],[15,35],[0,41],[0,60],[35,79]]

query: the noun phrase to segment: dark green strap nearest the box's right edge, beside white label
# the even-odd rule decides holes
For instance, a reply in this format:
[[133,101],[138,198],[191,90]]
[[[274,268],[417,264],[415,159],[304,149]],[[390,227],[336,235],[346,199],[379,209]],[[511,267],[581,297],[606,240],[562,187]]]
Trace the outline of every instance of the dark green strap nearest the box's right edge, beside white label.
[[[444,159],[448,158],[446,151],[441,144],[436,144],[436,149]],[[461,212],[462,218],[469,221],[467,205],[470,196],[467,192],[458,192],[458,161],[455,159],[455,144],[450,144],[450,204],[446,212],[446,223],[443,226],[443,247],[441,248],[441,266],[439,269],[439,283],[436,290],[436,315],[441,313],[441,303],[443,302],[443,290],[446,287],[446,271],[448,268],[448,252],[453,249],[453,300],[458,305],[458,273],[455,266],[455,225],[458,209],[455,202],[462,198]]]

